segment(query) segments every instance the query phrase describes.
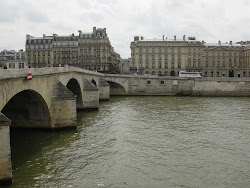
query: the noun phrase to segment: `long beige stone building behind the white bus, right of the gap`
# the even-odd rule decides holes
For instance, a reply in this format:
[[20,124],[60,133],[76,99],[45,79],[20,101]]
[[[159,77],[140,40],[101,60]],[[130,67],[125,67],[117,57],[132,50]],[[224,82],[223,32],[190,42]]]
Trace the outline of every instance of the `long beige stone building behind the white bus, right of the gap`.
[[131,73],[177,76],[179,71],[188,71],[202,72],[205,77],[250,76],[247,44],[208,44],[185,35],[181,40],[176,36],[172,40],[136,36],[130,48]]

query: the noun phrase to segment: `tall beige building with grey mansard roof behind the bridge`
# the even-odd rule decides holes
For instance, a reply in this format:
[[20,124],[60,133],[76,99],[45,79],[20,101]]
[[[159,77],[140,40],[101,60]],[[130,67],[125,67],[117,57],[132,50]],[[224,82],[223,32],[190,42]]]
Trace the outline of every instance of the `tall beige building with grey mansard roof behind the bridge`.
[[92,33],[79,35],[26,37],[26,58],[30,67],[76,66],[99,72],[112,72],[119,63],[106,28],[93,27]]

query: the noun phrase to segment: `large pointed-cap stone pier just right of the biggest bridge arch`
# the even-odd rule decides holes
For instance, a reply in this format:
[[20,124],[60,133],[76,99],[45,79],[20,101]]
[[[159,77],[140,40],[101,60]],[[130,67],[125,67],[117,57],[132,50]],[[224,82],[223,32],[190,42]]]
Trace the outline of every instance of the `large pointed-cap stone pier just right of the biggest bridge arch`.
[[76,98],[61,82],[56,82],[51,94],[51,124],[52,128],[76,128]]

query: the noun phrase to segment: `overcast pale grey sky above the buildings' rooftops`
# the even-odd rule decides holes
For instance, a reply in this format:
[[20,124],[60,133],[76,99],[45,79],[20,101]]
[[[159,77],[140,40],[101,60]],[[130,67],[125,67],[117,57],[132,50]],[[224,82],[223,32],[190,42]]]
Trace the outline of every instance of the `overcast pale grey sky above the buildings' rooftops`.
[[6,0],[0,3],[0,51],[25,50],[26,34],[41,37],[106,28],[111,45],[130,57],[134,36],[207,43],[250,40],[249,0]]

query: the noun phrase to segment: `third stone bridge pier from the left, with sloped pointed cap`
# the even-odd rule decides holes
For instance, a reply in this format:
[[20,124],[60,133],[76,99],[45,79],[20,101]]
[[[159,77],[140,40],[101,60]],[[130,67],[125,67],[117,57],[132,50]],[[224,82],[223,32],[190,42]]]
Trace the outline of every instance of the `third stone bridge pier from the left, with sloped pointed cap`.
[[83,109],[99,108],[99,90],[94,84],[92,84],[87,79],[83,80],[82,98]]

